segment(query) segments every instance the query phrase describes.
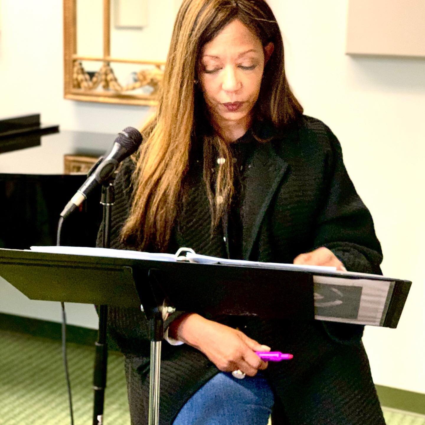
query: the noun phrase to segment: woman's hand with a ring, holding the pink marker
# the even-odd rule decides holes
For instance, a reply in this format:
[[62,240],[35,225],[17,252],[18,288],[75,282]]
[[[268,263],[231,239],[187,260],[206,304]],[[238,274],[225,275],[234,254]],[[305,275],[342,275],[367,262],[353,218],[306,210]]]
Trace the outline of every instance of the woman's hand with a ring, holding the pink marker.
[[183,341],[204,353],[223,372],[240,370],[254,376],[267,368],[255,351],[270,351],[243,332],[221,323],[188,313],[174,320],[169,327],[170,337]]

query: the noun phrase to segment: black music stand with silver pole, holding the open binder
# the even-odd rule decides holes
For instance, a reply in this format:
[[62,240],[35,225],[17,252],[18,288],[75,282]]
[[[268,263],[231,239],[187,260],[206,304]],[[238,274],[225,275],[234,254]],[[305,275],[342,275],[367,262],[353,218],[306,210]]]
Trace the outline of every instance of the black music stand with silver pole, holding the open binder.
[[[148,423],[153,425],[159,420],[165,301],[182,311],[213,315],[314,320],[323,317],[323,311],[317,314],[314,306],[314,292],[320,290],[320,280],[348,277],[357,279],[360,285],[368,275],[0,249],[0,276],[34,300],[142,306],[150,321]],[[411,282],[382,276],[369,280],[381,280],[388,286],[377,326],[396,327]],[[337,316],[333,320],[344,321]]]

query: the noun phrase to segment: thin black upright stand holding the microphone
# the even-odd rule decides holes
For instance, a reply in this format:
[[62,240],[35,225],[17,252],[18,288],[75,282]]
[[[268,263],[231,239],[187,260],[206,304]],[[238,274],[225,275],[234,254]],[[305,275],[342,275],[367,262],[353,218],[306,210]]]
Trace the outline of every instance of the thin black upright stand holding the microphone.
[[[103,228],[102,247],[109,248],[111,245],[111,213],[112,205],[115,202],[115,190],[113,187],[113,177],[102,184],[103,205]],[[93,425],[103,424],[103,407],[106,388],[106,369],[108,363],[108,343],[106,342],[106,329],[108,325],[108,306],[99,307],[99,334],[95,343],[96,356],[94,360],[94,405],[93,405]]]

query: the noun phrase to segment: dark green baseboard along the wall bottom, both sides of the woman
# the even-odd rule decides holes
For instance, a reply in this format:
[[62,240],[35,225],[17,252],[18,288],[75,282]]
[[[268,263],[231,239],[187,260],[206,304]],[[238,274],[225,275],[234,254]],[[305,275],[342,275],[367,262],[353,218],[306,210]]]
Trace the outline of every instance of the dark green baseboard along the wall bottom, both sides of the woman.
[[[0,313],[0,329],[53,340],[61,340],[62,338],[61,323],[13,314]],[[97,330],[67,325],[66,340],[68,343],[92,346],[97,340]],[[112,342],[108,342],[108,345],[109,349],[118,350]],[[382,406],[425,415],[425,394],[383,385],[375,386]]]

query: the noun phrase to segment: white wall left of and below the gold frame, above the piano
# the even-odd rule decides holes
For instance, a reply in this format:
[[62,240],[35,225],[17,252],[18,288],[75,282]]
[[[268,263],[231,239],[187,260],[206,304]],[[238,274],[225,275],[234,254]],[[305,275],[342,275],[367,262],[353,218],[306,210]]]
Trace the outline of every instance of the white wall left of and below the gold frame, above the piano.
[[2,0],[0,116],[41,112],[62,130],[117,133],[137,127],[145,108],[63,99],[63,12],[60,0]]

